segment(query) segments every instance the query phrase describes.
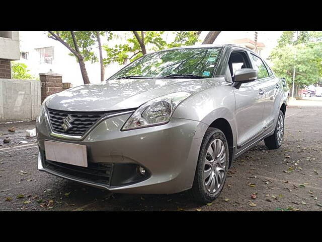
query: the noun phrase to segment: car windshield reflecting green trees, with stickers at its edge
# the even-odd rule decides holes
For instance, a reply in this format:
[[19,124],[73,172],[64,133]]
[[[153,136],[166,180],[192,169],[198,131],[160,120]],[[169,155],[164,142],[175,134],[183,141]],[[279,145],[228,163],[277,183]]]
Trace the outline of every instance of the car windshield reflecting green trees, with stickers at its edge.
[[221,48],[182,48],[146,54],[109,78],[209,78]]

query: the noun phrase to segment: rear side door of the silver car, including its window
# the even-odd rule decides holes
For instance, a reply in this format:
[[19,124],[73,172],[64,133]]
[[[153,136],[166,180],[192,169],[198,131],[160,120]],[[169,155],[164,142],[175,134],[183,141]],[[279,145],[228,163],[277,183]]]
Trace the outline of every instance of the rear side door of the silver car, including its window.
[[276,118],[274,104],[280,84],[278,78],[274,77],[273,72],[261,57],[251,53],[251,59],[254,69],[258,71],[258,78],[262,79],[262,90],[264,91],[263,98],[265,99],[262,120],[264,128],[270,131],[274,124],[274,118]]

